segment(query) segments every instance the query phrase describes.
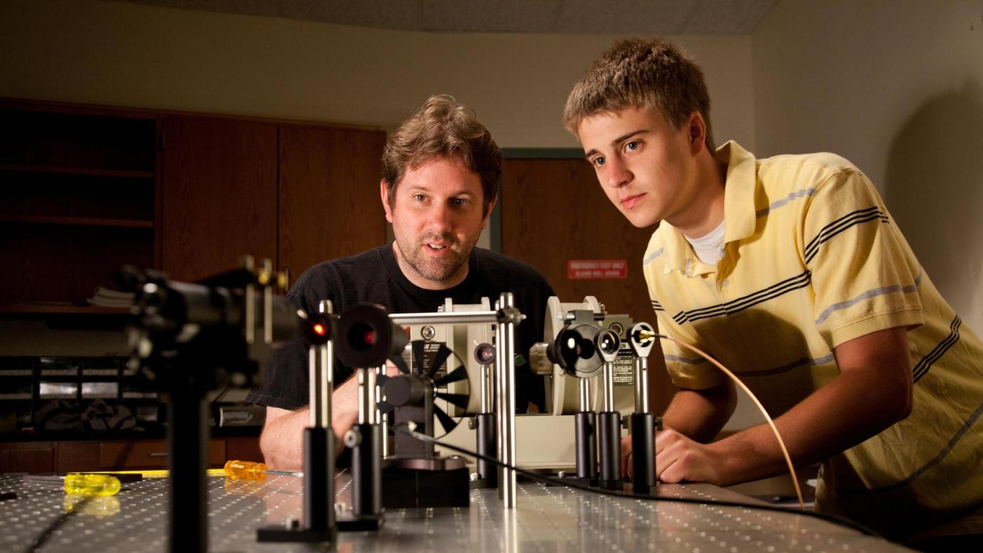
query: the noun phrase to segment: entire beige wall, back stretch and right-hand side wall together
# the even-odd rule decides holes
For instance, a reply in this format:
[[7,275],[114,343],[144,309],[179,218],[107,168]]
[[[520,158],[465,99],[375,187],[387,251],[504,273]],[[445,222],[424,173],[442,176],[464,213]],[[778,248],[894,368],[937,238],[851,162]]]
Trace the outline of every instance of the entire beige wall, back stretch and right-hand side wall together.
[[[392,128],[450,92],[502,146],[573,147],[563,100],[613,38],[7,0],[0,96]],[[675,38],[706,70],[719,141],[853,160],[966,323],[983,328],[983,1],[782,0],[752,36]]]

